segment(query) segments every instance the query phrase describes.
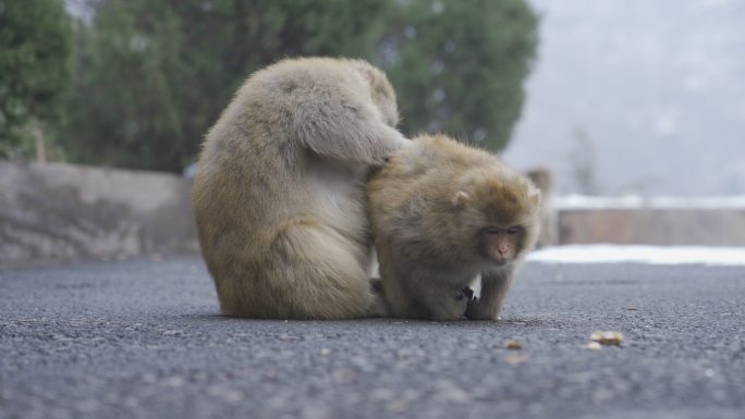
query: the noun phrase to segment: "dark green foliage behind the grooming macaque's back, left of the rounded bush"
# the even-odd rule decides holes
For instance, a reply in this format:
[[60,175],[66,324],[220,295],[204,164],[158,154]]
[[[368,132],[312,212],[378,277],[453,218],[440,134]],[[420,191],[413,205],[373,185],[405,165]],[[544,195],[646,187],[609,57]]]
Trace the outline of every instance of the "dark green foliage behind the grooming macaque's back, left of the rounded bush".
[[235,88],[294,56],[370,57],[378,0],[106,0],[81,27],[65,145],[78,161],[181,170]]

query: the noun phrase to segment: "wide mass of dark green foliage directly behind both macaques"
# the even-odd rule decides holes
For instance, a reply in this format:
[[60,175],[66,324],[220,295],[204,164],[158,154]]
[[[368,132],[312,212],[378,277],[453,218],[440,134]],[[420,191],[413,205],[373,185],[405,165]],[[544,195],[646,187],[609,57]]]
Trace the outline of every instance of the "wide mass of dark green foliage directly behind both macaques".
[[61,139],[76,161],[138,169],[182,170],[247,75],[297,56],[366,58],[407,134],[498,150],[537,41],[524,0],[87,1]]

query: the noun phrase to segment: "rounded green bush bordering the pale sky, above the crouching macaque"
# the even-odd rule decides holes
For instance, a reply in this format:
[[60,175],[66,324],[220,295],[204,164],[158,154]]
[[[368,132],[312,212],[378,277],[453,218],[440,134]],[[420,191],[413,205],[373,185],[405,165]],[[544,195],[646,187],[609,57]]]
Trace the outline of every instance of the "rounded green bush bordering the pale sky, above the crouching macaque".
[[520,118],[537,17],[523,0],[400,1],[381,47],[403,130],[502,149]]

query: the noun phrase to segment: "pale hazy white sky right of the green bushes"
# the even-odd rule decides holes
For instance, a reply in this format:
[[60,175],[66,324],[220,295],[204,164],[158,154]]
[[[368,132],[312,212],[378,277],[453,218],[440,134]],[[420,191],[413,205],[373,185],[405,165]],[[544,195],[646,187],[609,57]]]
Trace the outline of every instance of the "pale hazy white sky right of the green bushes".
[[577,152],[603,195],[745,194],[745,0],[528,1],[539,57],[508,163],[564,194]]

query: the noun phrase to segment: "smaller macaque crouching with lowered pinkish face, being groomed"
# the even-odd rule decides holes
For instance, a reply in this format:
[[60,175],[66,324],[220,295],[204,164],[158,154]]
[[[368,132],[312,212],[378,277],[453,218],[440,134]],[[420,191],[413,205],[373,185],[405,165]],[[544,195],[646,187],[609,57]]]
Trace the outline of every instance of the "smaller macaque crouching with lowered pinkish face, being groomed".
[[367,196],[390,315],[498,318],[539,233],[540,193],[527,177],[486,151],[424,135],[371,176]]

